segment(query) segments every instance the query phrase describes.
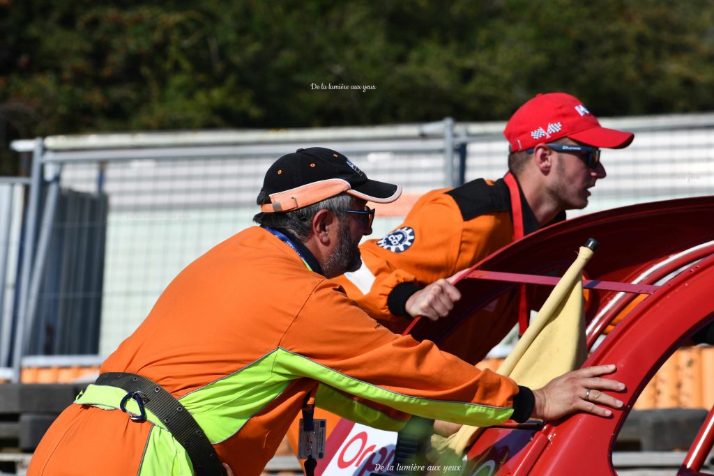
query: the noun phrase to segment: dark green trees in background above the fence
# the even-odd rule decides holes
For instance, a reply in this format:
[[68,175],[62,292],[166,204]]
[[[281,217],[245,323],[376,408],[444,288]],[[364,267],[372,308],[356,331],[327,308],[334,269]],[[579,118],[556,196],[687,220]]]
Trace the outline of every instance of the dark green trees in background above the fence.
[[714,110],[713,59],[711,0],[0,0],[0,173],[57,133]]

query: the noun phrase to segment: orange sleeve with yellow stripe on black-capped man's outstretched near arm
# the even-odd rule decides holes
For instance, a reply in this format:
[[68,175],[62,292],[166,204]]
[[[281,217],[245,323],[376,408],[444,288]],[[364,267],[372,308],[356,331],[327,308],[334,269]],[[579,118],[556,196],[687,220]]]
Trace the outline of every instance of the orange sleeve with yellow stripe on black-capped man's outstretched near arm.
[[281,348],[296,356],[290,372],[413,415],[493,424],[511,417],[521,392],[513,380],[478,370],[428,340],[391,333],[327,280],[303,305]]

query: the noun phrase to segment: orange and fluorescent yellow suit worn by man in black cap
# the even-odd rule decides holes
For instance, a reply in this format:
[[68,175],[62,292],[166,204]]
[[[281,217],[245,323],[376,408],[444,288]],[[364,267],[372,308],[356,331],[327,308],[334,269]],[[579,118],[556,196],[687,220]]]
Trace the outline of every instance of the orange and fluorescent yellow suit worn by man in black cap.
[[[531,390],[391,333],[320,273],[299,241],[248,228],[179,273],[101,372],[164,387],[241,475],[261,473],[311,395],[318,407],[386,430],[407,414],[468,425],[531,414]],[[117,410],[125,394],[89,385],[46,433],[27,474],[191,474],[161,421]]]

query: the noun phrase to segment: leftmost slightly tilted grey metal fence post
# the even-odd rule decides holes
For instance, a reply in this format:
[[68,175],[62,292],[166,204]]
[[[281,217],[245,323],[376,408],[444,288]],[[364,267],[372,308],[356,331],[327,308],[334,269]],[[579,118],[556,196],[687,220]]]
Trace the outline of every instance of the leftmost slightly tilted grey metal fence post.
[[34,263],[35,235],[37,228],[37,216],[40,206],[40,194],[42,191],[42,160],[44,156],[44,141],[36,138],[34,141],[34,151],[32,153],[32,175],[30,183],[30,199],[25,215],[24,245],[22,253],[22,274],[20,278],[20,303],[17,313],[17,323],[15,326],[15,344],[12,359],[14,383],[20,382],[21,360],[24,353],[25,319],[30,290],[30,275]]

